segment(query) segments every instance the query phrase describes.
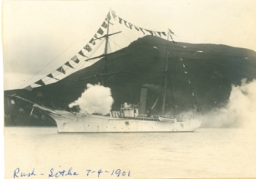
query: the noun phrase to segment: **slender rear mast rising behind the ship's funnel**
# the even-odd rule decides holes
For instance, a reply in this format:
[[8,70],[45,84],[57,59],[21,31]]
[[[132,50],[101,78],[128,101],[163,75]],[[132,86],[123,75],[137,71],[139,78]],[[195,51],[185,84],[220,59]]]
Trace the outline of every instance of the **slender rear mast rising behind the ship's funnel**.
[[166,46],[166,56],[165,56],[165,84],[164,84],[164,97],[162,104],[162,117],[165,116],[165,98],[166,98],[166,88],[167,88],[167,75],[168,75],[168,46],[169,46],[169,30],[167,30],[167,46]]

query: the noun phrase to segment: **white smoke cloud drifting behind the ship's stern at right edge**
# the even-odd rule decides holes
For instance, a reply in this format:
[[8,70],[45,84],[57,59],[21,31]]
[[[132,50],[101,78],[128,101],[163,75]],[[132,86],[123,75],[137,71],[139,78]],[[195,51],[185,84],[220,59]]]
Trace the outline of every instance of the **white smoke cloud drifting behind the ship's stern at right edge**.
[[205,126],[256,128],[256,80],[242,85],[232,85],[229,103],[226,107],[214,109],[203,117]]

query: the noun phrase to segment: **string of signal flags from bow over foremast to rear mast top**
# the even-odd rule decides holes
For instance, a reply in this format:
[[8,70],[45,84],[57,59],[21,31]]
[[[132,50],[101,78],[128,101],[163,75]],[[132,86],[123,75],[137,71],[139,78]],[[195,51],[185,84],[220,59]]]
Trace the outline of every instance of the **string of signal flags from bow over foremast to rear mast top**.
[[[144,35],[145,34],[150,34],[150,35],[156,36],[156,37],[162,37],[162,36],[166,37],[167,35],[169,35],[171,37],[172,42],[176,43],[176,42],[174,42],[173,37],[171,36],[171,34],[173,35],[174,32],[172,32],[170,29],[168,29],[168,34],[166,34],[164,31],[148,30],[148,29],[136,26],[136,25],[130,23],[129,21],[126,21],[123,18],[118,17],[116,12],[113,11],[112,9],[110,9],[110,11],[107,13],[107,17],[104,18],[104,21],[101,24],[101,27],[99,27],[99,29],[94,34],[94,36],[91,38],[91,40],[88,43],[85,44],[83,49],[80,50],[75,56],[73,56],[71,59],[69,59],[69,61],[65,62],[62,66],[60,66],[58,69],[56,69],[53,72],[59,72],[59,73],[65,75],[66,74],[66,70],[64,69],[63,66],[68,66],[71,69],[75,69],[76,66],[72,66],[72,64],[70,62],[75,62],[76,64],[79,64],[83,58],[88,58],[87,53],[90,53],[93,50],[93,47],[96,45],[97,40],[101,40],[101,38],[98,38],[98,34],[100,34],[102,36],[104,34],[104,30],[107,29],[108,23],[110,23],[110,19],[111,19],[111,15],[110,14],[114,18],[114,20],[118,19],[120,24],[124,24],[127,28],[130,28],[131,30],[135,29],[135,30],[138,30],[139,32],[142,32],[142,34],[144,34]],[[45,80],[45,78],[47,78],[47,79],[53,78],[55,80],[59,80],[58,78],[56,78],[53,75],[53,72],[50,73],[49,75],[46,75],[46,77],[41,78],[37,82],[34,82],[34,84],[41,85],[41,86],[45,85],[45,82],[43,82],[43,80]],[[29,86],[27,86],[24,89],[31,90],[33,88],[29,85]]]

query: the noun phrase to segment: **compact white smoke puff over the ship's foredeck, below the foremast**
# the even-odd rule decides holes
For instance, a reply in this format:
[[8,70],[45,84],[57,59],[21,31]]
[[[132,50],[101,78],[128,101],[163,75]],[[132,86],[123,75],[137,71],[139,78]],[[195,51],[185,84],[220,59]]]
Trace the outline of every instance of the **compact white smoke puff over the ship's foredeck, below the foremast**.
[[69,107],[79,106],[80,112],[101,113],[110,112],[114,99],[111,96],[110,88],[101,85],[87,85],[87,89],[78,100],[69,104]]

